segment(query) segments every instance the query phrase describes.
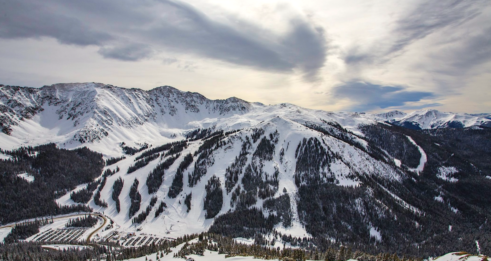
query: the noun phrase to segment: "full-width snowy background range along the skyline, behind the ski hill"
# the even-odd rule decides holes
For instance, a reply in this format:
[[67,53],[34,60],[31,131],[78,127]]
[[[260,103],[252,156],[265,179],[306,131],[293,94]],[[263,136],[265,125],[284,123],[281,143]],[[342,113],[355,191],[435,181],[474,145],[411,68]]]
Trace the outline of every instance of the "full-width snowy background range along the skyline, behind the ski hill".
[[[356,132],[360,123],[389,121],[414,128],[489,125],[491,120],[435,110],[406,114],[326,112],[282,103],[264,105],[236,97],[210,100],[170,86],[150,91],[101,83],[64,83],[42,88],[0,85],[0,142],[5,148],[55,142],[88,146],[117,156],[117,144],[163,143],[196,128],[240,129],[282,117],[303,122],[335,121]],[[9,135],[7,135],[9,134]]]

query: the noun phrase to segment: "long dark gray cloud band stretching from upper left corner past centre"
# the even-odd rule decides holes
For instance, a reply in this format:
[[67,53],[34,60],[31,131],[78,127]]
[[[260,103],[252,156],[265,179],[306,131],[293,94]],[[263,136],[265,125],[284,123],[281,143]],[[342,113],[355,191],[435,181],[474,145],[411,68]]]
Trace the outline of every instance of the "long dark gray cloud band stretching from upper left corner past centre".
[[0,8],[0,38],[95,45],[103,57],[123,61],[193,53],[260,70],[300,69],[306,80],[316,80],[326,61],[323,29],[300,15],[284,19],[291,26],[283,35],[252,21],[218,22],[178,0],[7,0]]

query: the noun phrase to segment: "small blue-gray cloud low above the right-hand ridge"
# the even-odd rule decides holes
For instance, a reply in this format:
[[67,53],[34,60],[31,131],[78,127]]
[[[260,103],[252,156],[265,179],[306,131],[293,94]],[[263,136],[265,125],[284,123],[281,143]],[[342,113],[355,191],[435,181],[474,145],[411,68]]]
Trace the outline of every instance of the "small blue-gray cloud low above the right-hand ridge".
[[[368,111],[388,107],[403,107],[408,102],[421,101],[436,95],[431,92],[409,91],[404,86],[387,86],[368,82],[347,82],[334,87],[332,94],[335,98],[348,98],[353,102],[350,110]],[[418,108],[436,106],[437,103],[420,105]]]

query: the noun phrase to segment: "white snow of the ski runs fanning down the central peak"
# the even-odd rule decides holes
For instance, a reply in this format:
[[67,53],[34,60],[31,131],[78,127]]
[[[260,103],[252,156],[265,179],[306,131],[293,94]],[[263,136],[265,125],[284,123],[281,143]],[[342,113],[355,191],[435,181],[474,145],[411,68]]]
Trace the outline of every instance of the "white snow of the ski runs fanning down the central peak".
[[[342,155],[343,160],[336,160],[329,166],[330,170],[334,174],[336,179],[336,184],[338,186],[356,187],[359,186],[360,181],[357,178],[348,178],[352,171],[360,173],[361,175],[369,175],[370,173],[377,173],[381,175],[382,178],[391,179],[394,181],[401,181],[404,176],[402,172],[396,171],[393,166],[379,162],[372,157],[370,157],[365,152],[345,143],[337,140],[333,137],[323,135],[319,132],[312,131],[309,128],[301,125],[290,119],[285,119],[282,117],[273,117],[271,119],[266,119],[261,122],[258,121],[258,125],[253,126],[253,128],[263,128],[265,130],[265,135],[273,133],[278,130],[278,144],[275,146],[275,151],[273,154],[272,161],[264,162],[264,171],[272,174],[274,172],[274,167],[276,166],[279,170],[279,186],[278,192],[274,195],[278,197],[283,192],[283,188],[287,190],[290,195],[291,206],[297,205],[297,186],[295,185],[293,179],[293,173],[295,172],[295,150],[300,141],[305,137],[316,137],[324,146],[333,152],[337,152]],[[236,132],[224,139],[225,142],[229,144],[215,150],[213,152],[214,164],[208,166],[207,174],[201,178],[196,186],[190,188],[188,186],[188,172],[192,172],[194,169],[194,163],[191,163],[190,167],[184,172],[184,188],[182,193],[175,199],[167,197],[167,192],[172,183],[173,177],[176,173],[177,166],[183,160],[181,156],[176,162],[170,166],[169,169],[165,171],[164,182],[159,190],[154,194],[159,200],[156,205],[160,204],[161,200],[164,200],[167,208],[164,213],[159,217],[155,218],[155,207],[148,215],[147,219],[142,222],[142,224],[133,224],[131,219],[133,217],[128,217],[128,210],[130,207],[130,198],[128,196],[130,187],[133,184],[135,178],[139,180],[138,190],[142,197],[140,210],[136,213],[141,213],[142,210],[146,208],[149,201],[153,195],[148,194],[148,190],[145,184],[146,177],[148,173],[157,166],[162,159],[156,159],[150,162],[147,166],[144,166],[133,173],[126,174],[126,170],[129,166],[134,164],[135,158],[142,152],[137,153],[133,156],[126,156],[126,159],[119,161],[115,165],[106,166],[104,170],[113,170],[118,166],[120,171],[111,175],[107,178],[106,186],[101,190],[101,200],[105,200],[108,203],[108,208],[103,208],[96,206],[93,200],[89,201],[89,206],[94,209],[95,212],[101,212],[110,216],[114,222],[120,226],[118,231],[122,233],[127,232],[137,232],[154,234],[159,237],[179,237],[184,234],[200,233],[206,231],[212,224],[213,219],[205,219],[205,212],[203,211],[203,198],[205,196],[205,185],[208,179],[212,175],[216,175],[224,187],[225,180],[225,169],[230,166],[235,156],[238,156],[241,150],[241,144],[245,139],[246,135],[252,133],[251,128],[245,128],[239,132]],[[91,146],[102,146],[102,143],[108,138],[103,139],[101,142],[91,143]],[[175,139],[182,139],[182,137],[177,136]],[[158,146],[168,142],[169,140],[154,140],[152,144]],[[201,144],[202,141],[189,142],[188,148],[186,148],[181,154],[186,155],[187,153],[193,153]],[[255,151],[257,144],[256,142],[252,145],[250,154],[247,156],[247,164],[251,162],[251,154]],[[127,143],[128,144],[128,143]],[[131,145],[131,144],[130,144]],[[280,150],[284,148],[284,158],[280,161]],[[195,157],[196,159],[196,157]],[[350,166],[347,166],[344,162],[349,162]],[[322,170],[327,171],[327,168]],[[243,175],[243,174],[242,174]],[[242,175],[239,176],[239,180],[242,179]],[[119,196],[121,202],[121,211],[117,213],[115,208],[115,202],[111,198],[112,185],[114,181],[121,177],[124,180],[124,186]],[[78,186],[75,190],[82,189],[85,184]],[[186,194],[191,193],[191,210],[188,213],[186,206],[184,205],[184,197]],[[57,203],[62,205],[71,205],[74,202],[70,199],[70,192],[56,200]],[[230,194],[224,193],[223,206],[219,214],[226,213],[227,211],[233,209],[230,206]],[[179,203],[180,202],[180,203]],[[258,199],[256,207],[262,207],[263,200]],[[266,211],[265,211],[266,212]],[[267,213],[265,213],[267,214]],[[297,213],[297,208],[292,208],[292,225],[289,227],[284,227],[281,223],[277,224],[274,229],[285,235],[291,235],[292,237],[310,237],[310,235],[305,231],[304,226],[300,223],[299,215]]]

